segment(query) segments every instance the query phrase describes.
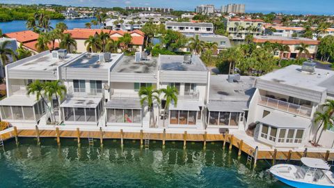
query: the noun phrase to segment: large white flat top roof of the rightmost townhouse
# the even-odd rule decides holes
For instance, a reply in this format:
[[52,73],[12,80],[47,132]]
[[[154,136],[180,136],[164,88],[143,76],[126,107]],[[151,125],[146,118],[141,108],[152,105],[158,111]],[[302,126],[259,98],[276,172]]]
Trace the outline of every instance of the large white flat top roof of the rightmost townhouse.
[[301,71],[301,65],[289,65],[257,79],[306,88],[312,91],[324,91],[327,88],[333,88],[334,71],[315,68],[315,72],[310,74]]

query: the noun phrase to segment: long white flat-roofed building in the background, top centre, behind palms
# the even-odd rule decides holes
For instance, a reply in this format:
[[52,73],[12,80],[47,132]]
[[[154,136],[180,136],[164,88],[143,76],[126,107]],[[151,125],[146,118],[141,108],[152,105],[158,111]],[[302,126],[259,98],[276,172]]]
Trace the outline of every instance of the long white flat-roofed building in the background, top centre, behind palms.
[[179,31],[181,33],[214,33],[214,24],[212,23],[193,23],[193,22],[166,22],[166,29]]

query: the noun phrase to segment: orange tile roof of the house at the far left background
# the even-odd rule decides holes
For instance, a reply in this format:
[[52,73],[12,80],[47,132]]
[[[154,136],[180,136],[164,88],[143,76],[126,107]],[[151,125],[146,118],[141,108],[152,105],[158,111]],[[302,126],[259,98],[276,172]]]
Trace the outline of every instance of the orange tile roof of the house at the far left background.
[[[29,49],[34,54],[37,54],[37,48],[35,47],[37,43],[37,39],[39,34],[35,33],[33,31],[27,30],[27,31],[18,31],[13,33],[5,33],[4,36],[6,38],[13,38],[17,41],[17,46],[22,43],[23,47],[26,49]],[[47,45],[50,49],[52,48],[52,44]],[[55,42],[54,47],[59,47],[59,43]]]

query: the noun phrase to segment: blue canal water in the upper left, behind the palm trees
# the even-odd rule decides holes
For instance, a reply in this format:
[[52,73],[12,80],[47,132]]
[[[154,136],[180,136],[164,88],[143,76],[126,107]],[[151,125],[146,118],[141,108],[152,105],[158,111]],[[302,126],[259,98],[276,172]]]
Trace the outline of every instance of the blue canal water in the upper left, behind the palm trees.
[[[87,22],[90,22],[93,18],[85,19],[51,19],[51,26],[55,27],[58,22],[64,22],[68,29],[84,28]],[[93,26],[92,28],[97,28]],[[0,29],[2,33],[11,33],[17,31],[24,31],[26,29],[26,20],[14,20],[13,22],[0,22]]]

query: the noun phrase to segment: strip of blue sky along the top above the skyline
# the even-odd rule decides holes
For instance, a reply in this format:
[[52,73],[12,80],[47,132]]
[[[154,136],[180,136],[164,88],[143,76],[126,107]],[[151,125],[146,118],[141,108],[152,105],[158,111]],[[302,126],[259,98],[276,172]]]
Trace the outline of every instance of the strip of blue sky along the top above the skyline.
[[65,6],[154,6],[194,10],[200,4],[221,7],[227,3],[245,3],[246,12],[302,13],[334,15],[334,0],[1,0],[1,3],[55,3]]

